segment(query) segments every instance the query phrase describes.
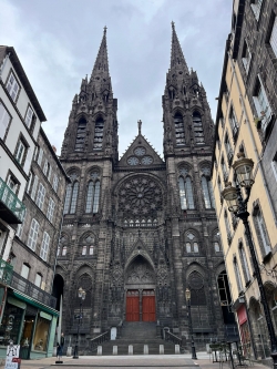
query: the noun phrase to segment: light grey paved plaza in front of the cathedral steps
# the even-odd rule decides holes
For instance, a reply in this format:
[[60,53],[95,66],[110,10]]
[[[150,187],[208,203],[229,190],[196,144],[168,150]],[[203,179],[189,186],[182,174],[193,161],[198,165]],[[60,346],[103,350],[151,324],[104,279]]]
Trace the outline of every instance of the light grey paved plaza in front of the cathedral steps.
[[[136,356],[82,356],[79,359],[72,359],[72,357],[64,357],[62,365],[57,365],[57,358],[45,358],[40,360],[22,360],[21,369],[47,369],[51,367],[66,368],[223,368],[229,369],[229,363],[224,362],[223,366],[219,362],[213,362],[212,358],[205,352],[197,353],[198,360],[192,360],[191,355],[136,355]],[[260,363],[254,363],[249,366],[252,369],[268,369]],[[2,369],[3,366],[0,366]]]

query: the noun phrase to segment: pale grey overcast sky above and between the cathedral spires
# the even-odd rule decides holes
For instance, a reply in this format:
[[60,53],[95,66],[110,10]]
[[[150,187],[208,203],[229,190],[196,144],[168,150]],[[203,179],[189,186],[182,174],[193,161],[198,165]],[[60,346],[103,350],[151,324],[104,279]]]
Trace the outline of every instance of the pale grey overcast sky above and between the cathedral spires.
[[104,25],[120,154],[142,133],[163,154],[162,94],[172,20],[188,68],[197,71],[215,119],[232,0],[0,0],[0,44],[13,47],[61,150],[72,99],[91,74]]

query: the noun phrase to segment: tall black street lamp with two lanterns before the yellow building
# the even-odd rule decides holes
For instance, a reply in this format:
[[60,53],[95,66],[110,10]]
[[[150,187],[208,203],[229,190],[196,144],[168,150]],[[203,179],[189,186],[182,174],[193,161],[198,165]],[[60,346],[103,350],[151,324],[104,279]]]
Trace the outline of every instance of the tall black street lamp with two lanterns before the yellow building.
[[[242,152],[237,154],[237,157],[238,160],[232,165],[237,176],[237,185],[236,187],[233,187],[229,182],[226,183],[226,188],[222,192],[222,196],[226,199],[229,212],[233,212],[236,217],[242,219],[245,226],[245,234],[249,245],[255,276],[257,278],[259,287],[260,301],[264,306],[264,312],[271,345],[271,358],[274,361],[274,368],[277,369],[277,339],[274,331],[270,310],[267,304],[266,293],[263,285],[248,223],[249,213],[247,212],[247,203],[250,196],[252,186],[254,184],[253,180],[254,162],[250,158],[246,158],[244,153]],[[240,187],[244,187],[246,191],[245,199],[242,196]]]

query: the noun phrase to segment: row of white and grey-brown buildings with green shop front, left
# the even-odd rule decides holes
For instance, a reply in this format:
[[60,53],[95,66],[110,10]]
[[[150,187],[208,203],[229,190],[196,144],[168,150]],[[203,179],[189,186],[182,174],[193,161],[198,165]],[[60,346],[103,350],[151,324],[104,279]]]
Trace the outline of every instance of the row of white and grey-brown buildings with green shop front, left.
[[0,357],[52,356],[59,312],[52,296],[69,178],[41,129],[44,114],[12,48],[0,48]]

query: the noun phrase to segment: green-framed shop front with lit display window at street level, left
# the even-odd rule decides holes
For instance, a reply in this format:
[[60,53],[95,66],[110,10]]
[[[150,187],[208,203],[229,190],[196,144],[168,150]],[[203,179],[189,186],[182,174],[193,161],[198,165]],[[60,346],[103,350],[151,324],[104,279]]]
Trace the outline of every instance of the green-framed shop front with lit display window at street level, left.
[[59,312],[17,290],[8,290],[0,326],[0,357],[12,340],[22,359],[51,357]]

